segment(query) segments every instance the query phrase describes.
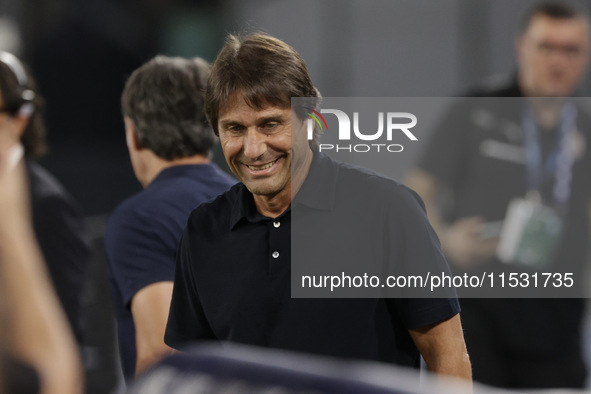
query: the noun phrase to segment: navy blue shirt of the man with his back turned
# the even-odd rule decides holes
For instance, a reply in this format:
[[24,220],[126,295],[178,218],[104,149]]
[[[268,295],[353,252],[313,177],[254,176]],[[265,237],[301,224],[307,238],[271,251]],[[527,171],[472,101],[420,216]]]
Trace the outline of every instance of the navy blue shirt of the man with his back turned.
[[142,288],[174,279],[175,255],[190,212],[236,181],[215,164],[164,169],[109,218],[105,246],[124,375],[135,373],[135,327],[130,304]]

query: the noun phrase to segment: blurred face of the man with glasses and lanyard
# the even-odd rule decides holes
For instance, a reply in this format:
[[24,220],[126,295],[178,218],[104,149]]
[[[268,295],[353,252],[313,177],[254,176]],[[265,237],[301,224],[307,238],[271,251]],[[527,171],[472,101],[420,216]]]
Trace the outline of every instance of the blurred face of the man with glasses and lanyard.
[[572,95],[589,56],[587,22],[536,15],[518,38],[519,82],[525,95]]

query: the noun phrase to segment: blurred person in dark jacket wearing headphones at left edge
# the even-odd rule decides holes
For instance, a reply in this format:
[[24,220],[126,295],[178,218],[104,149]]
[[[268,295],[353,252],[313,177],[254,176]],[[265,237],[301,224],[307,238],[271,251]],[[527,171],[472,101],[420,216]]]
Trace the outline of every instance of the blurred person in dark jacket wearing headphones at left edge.
[[26,66],[0,51],[0,132],[14,141],[11,158],[23,162],[29,179],[35,237],[71,329],[81,341],[82,286],[89,260],[88,240],[76,203],[36,160],[47,151],[43,98]]

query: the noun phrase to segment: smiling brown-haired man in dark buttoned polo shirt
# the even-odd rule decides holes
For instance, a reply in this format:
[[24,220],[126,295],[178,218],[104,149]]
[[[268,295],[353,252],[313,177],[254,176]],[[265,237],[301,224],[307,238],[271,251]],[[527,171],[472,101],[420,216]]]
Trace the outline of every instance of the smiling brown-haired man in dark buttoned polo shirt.
[[[447,269],[416,194],[314,153],[306,115],[291,108],[291,97],[312,106],[320,99],[293,48],[264,34],[228,37],[208,80],[206,113],[242,183],[189,218],[165,342],[232,341],[408,367],[419,365],[420,351],[431,371],[470,379],[456,298],[291,298],[290,237],[302,218],[330,233],[339,219],[363,214],[384,226],[361,231],[392,226],[391,237],[377,230],[375,239],[385,240],[379,259]],[[355,193],[368,205],[384,201],[386,215],[360,210]],[[347,247],[367,256],[369,246]]]

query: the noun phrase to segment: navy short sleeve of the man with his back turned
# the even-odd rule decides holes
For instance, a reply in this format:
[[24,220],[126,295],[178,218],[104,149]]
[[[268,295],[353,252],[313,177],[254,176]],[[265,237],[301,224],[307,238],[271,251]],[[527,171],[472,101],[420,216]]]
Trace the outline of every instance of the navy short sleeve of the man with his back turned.
[[105,233],[109,268],[127,308],[144,287],[173,281],[177,244],[166,226],[149,215],[122,209],[109,219]]

